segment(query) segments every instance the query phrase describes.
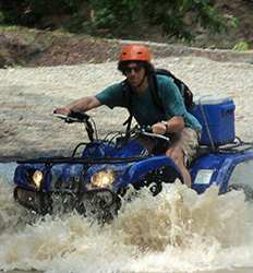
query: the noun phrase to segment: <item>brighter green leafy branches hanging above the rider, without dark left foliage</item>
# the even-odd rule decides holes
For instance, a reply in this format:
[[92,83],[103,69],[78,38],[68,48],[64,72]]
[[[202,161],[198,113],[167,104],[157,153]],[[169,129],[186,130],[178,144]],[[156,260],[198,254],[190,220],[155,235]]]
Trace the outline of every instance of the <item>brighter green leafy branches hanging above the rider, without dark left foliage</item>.
[[207,0],[89,0],[94,9],[93,24],[122,34],[140,21],[160,26],[169,37],[193,38],[192,25],[200,24],[213,33],[226,28],[226,19]]

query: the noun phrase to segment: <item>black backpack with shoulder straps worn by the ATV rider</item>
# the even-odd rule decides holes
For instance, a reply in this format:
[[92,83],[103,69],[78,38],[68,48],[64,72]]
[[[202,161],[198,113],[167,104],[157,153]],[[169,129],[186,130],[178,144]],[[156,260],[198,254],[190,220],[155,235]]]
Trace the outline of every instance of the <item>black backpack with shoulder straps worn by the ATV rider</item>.
[[[181,80],[179,80],[177,76],[174,76],[169,70],[156,69],[155,72],[148,79],[148,85],[150,87],[154,104],[161,110],[161,112],[165,112],[165,108],[164,108],[161,98],[158,95],[157,75],[166,75],[166,76],[172,79],[173,83],[178,86],[178,88],[183,97],[184,105],[185,105],[186,109],[189,110],[189,109],[194,107],[193,94],[192,94],[191,90],[188,87],[188,85],[184,82],[182,82]],[[129,86],[129,84],[126,83],[126,81],[124,81],[124,84],[125,84],[125,92],[124,92],[125,93],[125,102],[128,105],[126,108],[128,108],[129,112],[131,114],[132,90]]]

